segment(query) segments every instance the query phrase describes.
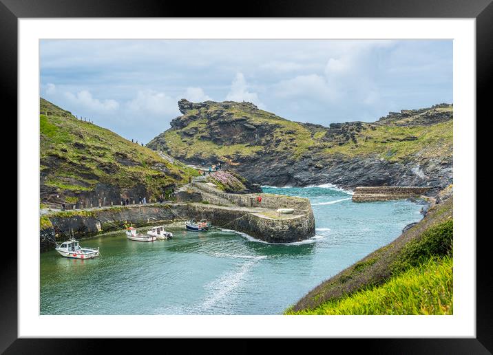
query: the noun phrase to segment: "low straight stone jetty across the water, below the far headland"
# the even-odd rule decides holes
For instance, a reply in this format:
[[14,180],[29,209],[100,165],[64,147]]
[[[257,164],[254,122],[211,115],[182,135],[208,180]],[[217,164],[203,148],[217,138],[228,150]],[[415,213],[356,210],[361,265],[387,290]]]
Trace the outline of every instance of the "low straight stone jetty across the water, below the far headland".
[[359,186],[355,189],[353,202],[405,200],[425,195],[430,186]]

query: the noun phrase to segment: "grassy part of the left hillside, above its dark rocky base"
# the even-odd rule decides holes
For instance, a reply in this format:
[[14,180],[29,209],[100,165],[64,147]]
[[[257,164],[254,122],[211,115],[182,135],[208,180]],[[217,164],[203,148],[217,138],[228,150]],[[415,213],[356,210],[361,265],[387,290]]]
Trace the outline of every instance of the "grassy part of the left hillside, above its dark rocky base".
[[88,191],[98,182],[124,189],[143,184],[151,196],[158,196],[162,186],[185,183],[189,175],[197,175],[194,169],[171,164],[155,151],[78,120],[43,98],[40,111],[40,169],[47,186]]

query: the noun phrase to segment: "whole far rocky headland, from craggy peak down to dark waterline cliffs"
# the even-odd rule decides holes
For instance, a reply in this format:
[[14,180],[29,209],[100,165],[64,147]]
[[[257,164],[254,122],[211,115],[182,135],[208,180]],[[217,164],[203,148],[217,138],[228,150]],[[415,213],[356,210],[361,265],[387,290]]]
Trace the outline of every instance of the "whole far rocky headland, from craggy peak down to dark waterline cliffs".
[[293,122],[251,103],[191,103],[147,147],[190,164],[218,161],[251,182],[434,186],[452,183],[452,105],[391,112],[329,127]]

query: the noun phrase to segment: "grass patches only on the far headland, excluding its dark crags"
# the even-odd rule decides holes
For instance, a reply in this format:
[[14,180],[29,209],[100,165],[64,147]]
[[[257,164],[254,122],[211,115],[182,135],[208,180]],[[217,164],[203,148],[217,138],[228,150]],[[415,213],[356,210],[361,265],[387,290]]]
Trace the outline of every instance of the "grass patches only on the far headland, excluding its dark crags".
[[[185,117],[204,117],[206,112],[213,114],[219,109],[221,109],[220,104],[216,103],[207,109],[200,109],[200,111],[191,110],[185,114]],[[406,127],[401,125],[421,118],[425,114],[452,112],[452,109],[452,106],[438,107],[429,109],[425,113],[415,114],[415,116],[410,116],[405,120],[363,123],[361,131],[353,131],[357,142],[349,140],[339,145],[324,138],[328,128],[311,127],[308,129],[298,122],[292,122],[267,111],[251,109],[251,107],[238,104],[228,109],[233,117],[246,117],[248,118],[247,122],[254,125],[262,123],[275,125],[273,135],[265,137],[256,145],[218,145],[210,140],[200,139],[203,136],[202,133],[207,132],[207,119],[198,118],[191,120],[184,129],[169,129],[164,133],[164,137],[171,155],[179,156],[185,152],[187,158],[192,156],[207,158],[212,155],[217,155],[220,158],[231,158],[234,155],[250,156],[262,152],[266,148],[271,151],[289,152],[295,159],[302,157],[305,153],[310,153],[313,148],[322,151],[326,158],[330,158],[331,155],[344,155],[347,158],[377,155],[379,158],[396,162],[405,160],[410,155],[419,155],[421,158],[443,158],[452,156],[452,120],[427,126]],[[191,137],[180,135],[180,131],[192,127],[198,128],[198,134]],[[273,144],[273,142],[276,143]]]

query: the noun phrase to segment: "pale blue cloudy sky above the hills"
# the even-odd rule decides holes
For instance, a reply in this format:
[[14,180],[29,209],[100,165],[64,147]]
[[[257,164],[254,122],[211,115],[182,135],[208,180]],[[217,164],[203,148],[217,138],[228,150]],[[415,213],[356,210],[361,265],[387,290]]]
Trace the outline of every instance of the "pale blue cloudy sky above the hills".
[[42,40],[40,67],[41,97],[144,143],[181,98],[325,126],[452,103],[452,40]]

